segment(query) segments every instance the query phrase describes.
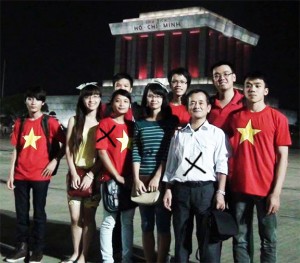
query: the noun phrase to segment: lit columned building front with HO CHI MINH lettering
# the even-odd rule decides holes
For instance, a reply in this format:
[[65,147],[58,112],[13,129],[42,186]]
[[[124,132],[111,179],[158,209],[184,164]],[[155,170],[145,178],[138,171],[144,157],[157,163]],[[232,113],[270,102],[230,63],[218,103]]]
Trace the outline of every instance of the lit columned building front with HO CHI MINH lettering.
[[114,71],[140,80],[163,79],[186,67],[192,84],[209,84],[210,66],[229,60],[238,77],[248,71],[259,36],[201,7],[141,13],[109,24],[116,39]]

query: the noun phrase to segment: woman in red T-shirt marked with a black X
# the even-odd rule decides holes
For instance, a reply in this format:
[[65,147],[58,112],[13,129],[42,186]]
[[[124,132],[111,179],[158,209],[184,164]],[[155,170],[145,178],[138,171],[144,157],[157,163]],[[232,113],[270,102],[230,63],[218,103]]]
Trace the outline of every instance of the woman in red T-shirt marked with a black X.
[[[133,122],[125,119],[131,103],[130,93],[116,90],[111,98],[113,114],[99,123],[96,148],[104,166],[101,181],[115,180],[128,194],[119,198],[122,231],[122,262],[132,262],[133,217],[135,205],[131,204],[132,158],[130,141],[133,135]],[[124,191],[123,191],[124,192]],[[127,206],[127,204],[129,204]],[[126,207],[125,207],[126,206]],[[118,211],[109,212],[104,206],[103,221],[100,227],[100,247],[102,262],[114,262],[112,234]]]

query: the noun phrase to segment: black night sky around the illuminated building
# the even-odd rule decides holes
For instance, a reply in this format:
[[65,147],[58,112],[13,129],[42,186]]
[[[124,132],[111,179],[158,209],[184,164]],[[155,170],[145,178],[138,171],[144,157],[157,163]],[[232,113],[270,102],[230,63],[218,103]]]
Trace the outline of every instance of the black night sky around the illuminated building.
[[41,85],[77,94],[83,82],[111,79],[109,23],[141,12],[201,6],[260,35],[251,69],[265,72],[280,106],[299,109],[298,1],[1,1],[4,96]]

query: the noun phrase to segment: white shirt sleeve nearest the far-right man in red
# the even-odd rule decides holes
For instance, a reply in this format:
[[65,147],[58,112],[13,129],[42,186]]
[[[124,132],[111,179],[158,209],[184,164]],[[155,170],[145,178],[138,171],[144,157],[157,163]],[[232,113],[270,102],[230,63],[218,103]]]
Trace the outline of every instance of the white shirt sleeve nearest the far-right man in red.
[[218,138],[215,150],[216,173],[228,174],[228,158],[231,154],[230,143],[221,129],[218,129],[217,132],[219,134],[216,134],[216,138]]

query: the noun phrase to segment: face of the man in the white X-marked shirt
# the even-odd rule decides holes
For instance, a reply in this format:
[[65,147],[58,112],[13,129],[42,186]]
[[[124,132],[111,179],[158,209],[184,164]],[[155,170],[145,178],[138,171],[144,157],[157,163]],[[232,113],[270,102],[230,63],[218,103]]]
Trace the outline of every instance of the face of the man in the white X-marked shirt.
[[208,104],[208,98],[203,92],[191,94],[188,98],[188,111],[193,120],[206,119],[210,112],[211,105]]

